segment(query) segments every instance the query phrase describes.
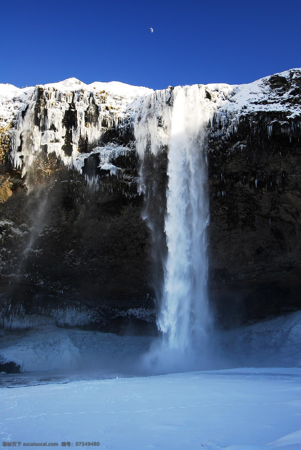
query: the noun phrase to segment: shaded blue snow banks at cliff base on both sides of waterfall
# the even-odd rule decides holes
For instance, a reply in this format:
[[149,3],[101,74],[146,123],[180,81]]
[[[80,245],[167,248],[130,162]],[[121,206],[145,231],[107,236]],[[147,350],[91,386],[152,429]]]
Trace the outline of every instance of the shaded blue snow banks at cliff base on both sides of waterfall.
[[[301,311],[247,327],[215,334],[212,360],[203,368],[301,367]],[[111,333],[36,327],[0,338],[0,363],[14,362],[21,372],[99,370],[118,375],[175,372],[174,366],[143,364],[150,346],[159,338],[116,336]],[[192,366],[202,368],[201,365]],[[184,365],[183,370],[190,370]]]

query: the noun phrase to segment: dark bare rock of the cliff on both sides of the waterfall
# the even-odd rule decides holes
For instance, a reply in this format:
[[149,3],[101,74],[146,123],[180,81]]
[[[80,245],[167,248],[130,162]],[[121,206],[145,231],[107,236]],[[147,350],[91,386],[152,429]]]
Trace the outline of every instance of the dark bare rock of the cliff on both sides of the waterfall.
[[[292,91],[279,76],[270,85],[280,97]],[[300,101],[296,80],[293,88]],[[46,123],[43,95],[39,90],[34,107],[39,130]],[[85,126],[94,126],[97,114],[91,97]],[[233,326],[300,307],[300,117],[249,112],[229,133],[225,121],[230,127],[233,114],[224,116],[221,125],[215,115],[208,130],[208,286],[217,320]],[[73,96],[63,117],[67,156],[76,120]],[[9,153],[3,159],[0,319],[6,328],[57,323],[122,332],[134,320],[139,333],[155,329],[154,280],[162,273],[142,219],[133,128],[126,120],[103,125],[93,147],[128,146],[112,160],[116,173],[99,167],[96,152],[85,157],[80,174],[47,153],[47,145],[25,178]],[[91,150],[88,138],[80,138],[79,151]],[[162,225],[167,152],[155,162],[150,156],[149,164],[146,173],[159,188],[148,193],[148,215]],[[164,252],[162,230],[158,239]]]

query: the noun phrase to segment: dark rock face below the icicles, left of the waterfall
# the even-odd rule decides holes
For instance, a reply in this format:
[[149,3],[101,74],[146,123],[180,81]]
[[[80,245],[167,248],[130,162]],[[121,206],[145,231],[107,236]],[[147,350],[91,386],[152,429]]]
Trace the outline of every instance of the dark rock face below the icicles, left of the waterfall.
[[[49,159],[43,155],[37,164],[48,165]],[[135,152],[116,163],[134,165],[135,178]],[[30,173],[36,177],[38,171],[32,167]],[[5,174],[12,195],[0,205],[3,316],[12,311],[18,316],[22,305],[25,315],[51,315],[66,307],[94,311],[93,320],[87,319],[94,328],[108,320],[118,328],[116,317],[129,308],[137,310],[133,316],[154,320],[149,230],[137,183],[104,173],[102,189],[93,189],[78,172],[57,167],[55,159],[49,175],[32,182],[30,192],[18,171],[6,168]]]

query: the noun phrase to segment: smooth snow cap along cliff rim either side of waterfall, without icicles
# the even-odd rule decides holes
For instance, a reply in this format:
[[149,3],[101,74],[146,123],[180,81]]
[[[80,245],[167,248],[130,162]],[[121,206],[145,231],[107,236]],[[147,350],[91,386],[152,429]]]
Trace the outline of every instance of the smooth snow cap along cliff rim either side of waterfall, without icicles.
[[[36,86],[37,87],[37,86]],[[0,125],[8,124],[13,118],[14,110],[23,110],[35,92],[36,87],[19,89],[10,84],[0,84]],[[142,86],[132,86],[119,81],[102,83],[95,81],[89,85],[68,78],[58,83],[38,85],[44,90],[61,93],[105,92],[105,101],[108,107],[117,108],[120,115],[128,109],[134,112],[142,99],[154,92],[152,89]],[[237,111],[239,114],[259,111],[284,111],[289,117],[300,115],[300,103],[294,101],[296,95],[300,95],[301,68],[294,68],[271,76],[266,76],[252,83],[242,85],[229,85],[215,83],[206,85],[211,93],[212,101],[218,108]],[[297,89],[299,88],[299,92]]]

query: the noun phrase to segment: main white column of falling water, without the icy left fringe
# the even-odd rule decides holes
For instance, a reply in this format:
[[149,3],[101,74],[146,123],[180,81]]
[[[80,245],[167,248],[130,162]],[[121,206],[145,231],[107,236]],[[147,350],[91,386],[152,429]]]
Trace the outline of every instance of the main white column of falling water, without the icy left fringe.
[[[209,221],[204,184],[207,170],[204,125],[208,117],[199,86],[179,89],[173,103],[165,232],[168,257],[159,329],[171,348],[196,348],[208,324],[206,228]],[[207,120],[206,120],[207,119]]]

